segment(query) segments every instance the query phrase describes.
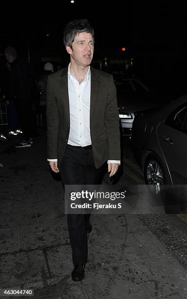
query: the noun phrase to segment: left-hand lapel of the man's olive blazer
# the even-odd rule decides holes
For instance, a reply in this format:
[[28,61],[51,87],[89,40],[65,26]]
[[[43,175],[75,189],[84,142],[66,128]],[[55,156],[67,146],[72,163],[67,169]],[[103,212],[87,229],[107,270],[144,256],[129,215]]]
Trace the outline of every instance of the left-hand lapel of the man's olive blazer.
[[70,124],[70,103],[69,103],[69,94],[68,94],[68,67],[64,68],[60,75],[60,94],[64,102],[64,107],[66,109],[68,122]]

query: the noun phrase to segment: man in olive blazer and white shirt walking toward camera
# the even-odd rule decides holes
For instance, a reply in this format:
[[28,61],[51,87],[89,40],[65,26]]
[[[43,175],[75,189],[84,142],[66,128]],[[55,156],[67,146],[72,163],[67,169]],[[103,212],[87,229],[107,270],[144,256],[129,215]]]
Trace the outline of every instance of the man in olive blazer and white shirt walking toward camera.
[[[94,32],[87,20],[74,20],[64,29],[70,54],[68,67],[48,78],[48,161],[64,185],[98,184],[103,164],[110,176],[120,164],[119,113],[111,74],[90,66]],[[68,214],[74,269],[72,279],[85,277],[89,215]]]

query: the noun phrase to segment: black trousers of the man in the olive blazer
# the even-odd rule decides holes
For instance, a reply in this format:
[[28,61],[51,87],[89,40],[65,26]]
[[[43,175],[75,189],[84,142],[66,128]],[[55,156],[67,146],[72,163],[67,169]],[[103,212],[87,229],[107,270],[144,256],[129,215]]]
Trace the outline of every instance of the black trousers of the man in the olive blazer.
[[[102,180],[103,167],[95,168],[92,149],[79,149],[67,145],[59,169],[64,185],[96,185]],[[67,218],[73,263],[86,263],[86,221],[89,220],[90,214],[68,214]]]

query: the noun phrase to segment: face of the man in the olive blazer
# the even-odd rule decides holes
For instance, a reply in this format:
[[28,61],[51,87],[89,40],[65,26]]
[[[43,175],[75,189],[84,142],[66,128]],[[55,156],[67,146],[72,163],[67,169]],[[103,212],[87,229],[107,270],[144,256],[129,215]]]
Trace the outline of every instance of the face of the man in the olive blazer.
[[71,62],[76,65],[88,66],[93,59],[94,43],[90,33],[81,32],[75,36],[75,41],[71,47],[66,47],[67,52],[71,55]]

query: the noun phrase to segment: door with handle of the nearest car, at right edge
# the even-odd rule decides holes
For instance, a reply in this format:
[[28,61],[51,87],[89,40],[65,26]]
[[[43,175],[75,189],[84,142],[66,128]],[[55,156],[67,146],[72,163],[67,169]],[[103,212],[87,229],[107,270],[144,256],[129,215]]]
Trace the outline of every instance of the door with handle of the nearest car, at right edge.
[[187,103],[158,126],[157,137],[173,184],[187,184]]

